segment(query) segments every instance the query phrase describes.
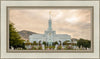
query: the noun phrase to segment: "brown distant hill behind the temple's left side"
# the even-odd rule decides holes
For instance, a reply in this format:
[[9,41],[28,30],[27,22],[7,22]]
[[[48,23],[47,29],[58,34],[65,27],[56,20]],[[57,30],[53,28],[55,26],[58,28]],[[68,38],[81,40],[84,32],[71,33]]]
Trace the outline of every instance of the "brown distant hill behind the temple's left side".
[[31,31],[27,31],[27,30],[22,30],[22,31],[19,31],[18,33],[22,37],[22,39],[24,39],[24,40],[28,40],[29,35],[37,34],[35,32],[31,32]]

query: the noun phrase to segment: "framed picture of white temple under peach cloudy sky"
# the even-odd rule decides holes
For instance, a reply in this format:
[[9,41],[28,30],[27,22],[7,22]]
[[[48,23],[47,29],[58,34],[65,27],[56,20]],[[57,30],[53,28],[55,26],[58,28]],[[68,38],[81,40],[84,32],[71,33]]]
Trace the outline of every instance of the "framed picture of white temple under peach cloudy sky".
[[91,50],[92,7],[10,8],[10,50]]

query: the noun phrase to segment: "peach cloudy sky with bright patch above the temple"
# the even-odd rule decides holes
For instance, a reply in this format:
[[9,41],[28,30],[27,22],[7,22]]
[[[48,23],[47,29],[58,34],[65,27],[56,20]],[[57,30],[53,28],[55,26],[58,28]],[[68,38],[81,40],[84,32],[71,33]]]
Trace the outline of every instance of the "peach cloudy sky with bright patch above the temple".
[[40,34],[48,28],[51,11],[52,29],[56,34],[68,34],[72,38],[91,40],[91,8],[10,8],[9,20],[17,31],[28,30]]

